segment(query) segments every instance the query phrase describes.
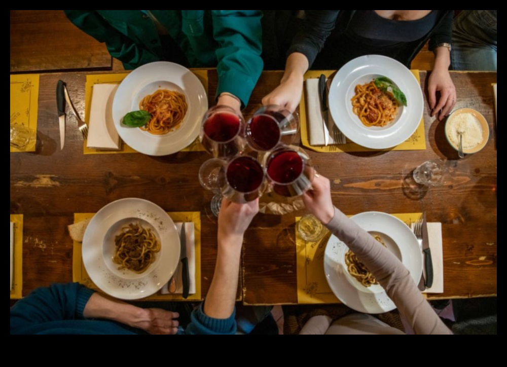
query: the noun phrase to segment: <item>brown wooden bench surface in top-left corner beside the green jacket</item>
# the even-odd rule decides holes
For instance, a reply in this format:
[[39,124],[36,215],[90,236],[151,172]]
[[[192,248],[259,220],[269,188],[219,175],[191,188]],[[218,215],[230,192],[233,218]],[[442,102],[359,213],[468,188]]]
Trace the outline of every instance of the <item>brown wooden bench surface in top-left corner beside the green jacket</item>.
[[11,10],[11,72],[111,69],[105,44],[62,10]]

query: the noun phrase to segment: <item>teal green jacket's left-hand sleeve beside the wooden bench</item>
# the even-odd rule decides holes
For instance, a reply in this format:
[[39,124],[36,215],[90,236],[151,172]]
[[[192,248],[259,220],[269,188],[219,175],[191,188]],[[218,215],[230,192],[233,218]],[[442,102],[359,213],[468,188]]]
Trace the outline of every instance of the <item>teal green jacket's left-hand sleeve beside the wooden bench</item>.
[[[111,56],[120,60],[125,69],[131,70],[149,62],[160,61],[160,57],[144,47],[142,42],[135,43],[125,34],[128,32],[126,24],[136,26],[137,30],[144,28],[145,31],[149,31],[147,27],[139,25],[142,21],[140,11],[138,14],[131,10],[103,11],[107,12],[107,21],[96,10],[64,10],[64,12],[74,25],[97,41],[105,43]],[[139,19],[130,19],[135,16]],[[125,33],[121,31],[122,29]]]

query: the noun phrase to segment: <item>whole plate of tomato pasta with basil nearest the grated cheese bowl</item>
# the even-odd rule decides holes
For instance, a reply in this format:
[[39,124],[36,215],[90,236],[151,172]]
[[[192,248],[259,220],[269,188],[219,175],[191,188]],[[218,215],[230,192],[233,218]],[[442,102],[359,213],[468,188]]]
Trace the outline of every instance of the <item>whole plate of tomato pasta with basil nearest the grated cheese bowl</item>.
[[349,140],[370,149],[389,149],[417,130],[424,98],[407,67],[389,57],[367,55],[338,70],[329,91],[329,108]]

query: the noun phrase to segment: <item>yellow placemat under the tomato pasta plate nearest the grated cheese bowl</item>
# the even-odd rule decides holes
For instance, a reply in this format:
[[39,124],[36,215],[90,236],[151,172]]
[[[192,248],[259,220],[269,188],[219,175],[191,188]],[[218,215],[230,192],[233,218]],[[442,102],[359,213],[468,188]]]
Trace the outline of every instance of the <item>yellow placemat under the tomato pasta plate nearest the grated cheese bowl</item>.
[[[419,70],[411,70],[414,77],[416,77],[419,84],[421,84],[421,79],[419,77]],[[324,74],[326,77],[330,77],[333,75],[335,71],[326,70],[326,71],[317,71],[310,70],[305,74],[305,80],[311,78],[318,78],[321,74]],[[343,145],[328,145],[328,146],[313,146],[310,145],[310,139],[308,134],[308,123],[306,116],[306,100],[305,100],[305,92],[303,92],[303,96],[301,98],[301,103],[299,104],[300,108],[300,121],[301,121],[301,143],[306,146],[306,148],[311,149],[315,152],[321,153],[343,153],[343,152],[375,152],[373,149],[365,148],[364,146],[358,145],[356,143],[349,141],[347,144]],[[386,149],[386,151],[424,151],[426,150],[426,134],[424,133],[424,117],[421,117],[421,122],[416,132],[412,134],[412,136],[401,143],[400,145],[395,146],[391,149]]]

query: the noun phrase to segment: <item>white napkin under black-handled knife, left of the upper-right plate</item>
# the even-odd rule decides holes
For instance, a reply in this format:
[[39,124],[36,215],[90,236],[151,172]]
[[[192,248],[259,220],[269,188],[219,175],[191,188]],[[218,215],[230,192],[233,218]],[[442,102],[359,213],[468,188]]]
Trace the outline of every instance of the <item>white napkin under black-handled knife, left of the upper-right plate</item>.
[[[324,145],[324,128],[322,126],[322,113],[320,112],[318,79],[307,79],[305,81],[305,90],[310,145]],[[335,144],[335,140],[333,139],[334,126],[335,121],[331,117],[331,112],[328,108],[329,145]]]

